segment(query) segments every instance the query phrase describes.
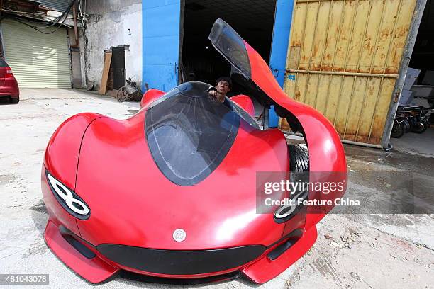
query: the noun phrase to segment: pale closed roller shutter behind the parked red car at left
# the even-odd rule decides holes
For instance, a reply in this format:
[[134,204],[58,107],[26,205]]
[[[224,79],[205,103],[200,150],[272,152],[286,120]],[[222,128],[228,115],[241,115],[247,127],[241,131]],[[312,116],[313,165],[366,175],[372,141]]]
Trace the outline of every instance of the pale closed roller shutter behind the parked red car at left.
[[[54,29],[40,30],[51,32]],[[18,86],[71,88],[65,28],[44,34],[17,21],[4,19],[1,21],[1,32],[6,62],[12,68]]]

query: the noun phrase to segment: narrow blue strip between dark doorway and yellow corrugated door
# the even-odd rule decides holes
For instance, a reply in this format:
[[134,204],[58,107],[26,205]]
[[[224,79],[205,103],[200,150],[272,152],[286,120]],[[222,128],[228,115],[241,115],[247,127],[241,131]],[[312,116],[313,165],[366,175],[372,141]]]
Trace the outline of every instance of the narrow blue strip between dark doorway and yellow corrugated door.
[[[281,87],[284,85],[286,54],[288,53],[293,8],[294,0],[277,0],[269,67]],[[274,107],[272,107],[269,111],[269,127],[277,128],[277,125],[278,118],[274,112]]]

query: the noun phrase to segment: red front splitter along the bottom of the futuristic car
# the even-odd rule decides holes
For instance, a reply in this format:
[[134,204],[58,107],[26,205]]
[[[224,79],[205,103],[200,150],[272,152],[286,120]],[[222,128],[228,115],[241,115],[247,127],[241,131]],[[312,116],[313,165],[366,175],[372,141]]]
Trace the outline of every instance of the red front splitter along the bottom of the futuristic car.
[[[260,257],[253,261],[250,261],[244,266],[238,266],[237,268],[213,273],[201,273],[193,275],[169,275],[139,271],[135,268],[129,268],[127,266],[122,266],[121,264],[114,263],[113,261],[107,259],[105,256],[101,255],[96,250],[96,247],[91,245],[89,246],[89,244],[84,242],[84,240],[76,237],[77,242],[79,242],[80,246],[85,247],[84,250],[79,250],[79,248],[77,248],[78,243],[73,246],[71,242],[68,242],[67,239],[65,239],[65,234],[61,233],[60,227],[58,227],[52,220],[48,221],[47,227],[45,229],[45,240],[48,246],[50,247],[50,249],[52,249],[56,256],[59,257],[59,259],[61,259],[69,268],[79,274],[79,276],[82,276],[84,279],[89,280],[89,282],[91,283],[101,283],[122,269],[145,276],[171,279],[199,279],[208,278],[211,276],[224,276],[228,273],[240,272],[243,273],[243,275],[247,276],[247,278],[249,278],[253,282],[262,284],[266,283],[272,278],[275,278],[284,270],[286,270],[286,268],[295,263],[295,261],[301,258],[301,256],[303,256],[306,251],[311,248],[317,237],[316,227],[313,226],[309,231],[304,232],[304,234],[299,239],[296,239],[296,242],[288,246],[286,249],[284,249],[284,251],[280,252],[275,258],[272,257],[271,253],[276,252],[277,247],[279,246],[280,248],[282,248],[282,246],[284,246],[284,244],[286,243],[286,240],[270,247]],[[86,254],[86,251],[89,251],[89,254]],[[152,262],[156,261],[157,260],[152,260]],[[225,278],[223,278],[223,280],[224,279]]]

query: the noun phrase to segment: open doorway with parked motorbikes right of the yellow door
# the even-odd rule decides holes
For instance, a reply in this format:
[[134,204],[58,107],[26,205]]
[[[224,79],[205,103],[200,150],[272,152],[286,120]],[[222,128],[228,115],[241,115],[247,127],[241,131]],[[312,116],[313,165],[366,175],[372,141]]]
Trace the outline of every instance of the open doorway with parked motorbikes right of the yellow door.
[[[401,92],[396,119],[405,121],[404,130],[393,134],[390,140],[395,149],[434,157],[434,1],[427,0],[425,10],[418,28],[410,64],[408,65],[406,82]],[[430,125],[424,127],[418,121],[420,108],[430,115]],[[407,119],[405,119],[407,116]],[[426,118],[426,117],[425,117]],[[416,128],[415,128],[416,126]],[[394,126],[395,130],[398,125]],[[394,131],[392,131],[394,132]]]

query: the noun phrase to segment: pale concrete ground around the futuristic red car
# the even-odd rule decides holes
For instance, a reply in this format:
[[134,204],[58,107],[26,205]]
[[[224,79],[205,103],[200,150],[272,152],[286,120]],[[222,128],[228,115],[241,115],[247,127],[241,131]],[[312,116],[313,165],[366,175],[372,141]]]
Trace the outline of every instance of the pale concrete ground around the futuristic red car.
[[[35,288],[95,286],[70,271],[46,246],[43,232],[48,215],[40,193],[41,162],[50,135],[70,115],[84,111],[128,118],[138,111],[138,103],[62,89],[22,89],[18,105],[0,101],[0,273],[50,274],[50,285]],[[348,192],[354,196],[375,199],[387,194],[393,180],[372,179],[381,171],[417,174],[425,190],[434,191],[431,157],[354,146],[345,150],[352,173]],[[236,279],[193,287],[434,288],[433,264],[434,215],[331,214],[318,225],[313,248],[274,280],[261,286]],[[191,286],[118,276],[97,287]]]

